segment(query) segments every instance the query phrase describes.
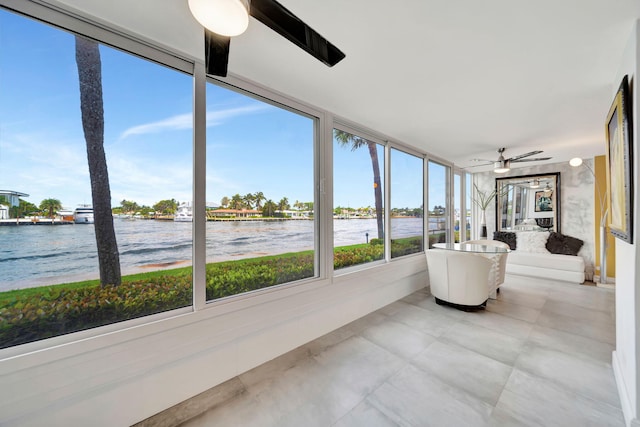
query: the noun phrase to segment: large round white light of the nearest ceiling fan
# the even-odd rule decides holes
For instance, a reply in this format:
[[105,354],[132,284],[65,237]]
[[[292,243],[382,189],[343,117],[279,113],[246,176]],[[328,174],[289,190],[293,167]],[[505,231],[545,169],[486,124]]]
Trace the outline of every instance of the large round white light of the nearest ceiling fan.
[[237,36],[249,26],[249,0],[189,0],[189,9],[203,27],[221,36]]

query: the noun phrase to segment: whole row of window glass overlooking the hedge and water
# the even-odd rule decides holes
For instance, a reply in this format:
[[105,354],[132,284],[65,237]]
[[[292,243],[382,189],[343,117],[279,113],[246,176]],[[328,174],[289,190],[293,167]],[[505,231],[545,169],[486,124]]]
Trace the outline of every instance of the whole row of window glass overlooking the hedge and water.
[[[0,348],[324,279],[319,272],[330,269],[320,262],[340,270],[423,250],[430,208],[419,152],[341,125],[323,142],[322,115],[310,107],[246,82],[205,83],[192,63],[120,34],[99,29],[92,37],[102,43],[81,43],[5,9],[0,24],[0,188],[11,190],[0,195],[9,216],[0,226]],[[194,80],[206,86],[205,108]],[[98,95],[102,111],[81,103]],[[205,109],[206,124],[194,127]],[[206,144],[194,146],[194,134]],[[96,142],[108,171],[110,195],[98,201],[113,218],[110,260],[98,255],[109,237],[97,232],[103,216],[87,153]],[[329,151],[330,161],[321,158]],[[333,218],[318,214],[326,213],[322,173],[333,174]],[[445,177],[444,197],[447,185]],[[445,215],[447,202],[436,204]],[[446,221],[436,223],[446,233]],[[205,227],[196,235],[197,224]],[[334,256],[321,259],[317,249],[331,247],[321,231],[331,225]],[[121,283],[101,280],[104,265],[117,266]]]

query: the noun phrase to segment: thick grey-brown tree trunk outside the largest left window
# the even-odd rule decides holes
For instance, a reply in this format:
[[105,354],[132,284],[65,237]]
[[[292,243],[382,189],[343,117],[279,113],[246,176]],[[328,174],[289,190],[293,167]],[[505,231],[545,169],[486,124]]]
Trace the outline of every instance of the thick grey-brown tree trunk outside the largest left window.
[[102,64],[98,43],[76,36],[76,65],[80,83],[80,112],[87,144],[94,229],[101,286],[120,286],[120,254],[111,213],[109,171],[104,154]]

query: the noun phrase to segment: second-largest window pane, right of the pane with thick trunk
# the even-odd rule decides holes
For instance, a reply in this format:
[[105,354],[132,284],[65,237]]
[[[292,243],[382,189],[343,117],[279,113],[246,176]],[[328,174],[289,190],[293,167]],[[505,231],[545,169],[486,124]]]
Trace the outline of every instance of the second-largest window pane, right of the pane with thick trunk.
[[207,301],[315,276],[315,122],[207,84]]

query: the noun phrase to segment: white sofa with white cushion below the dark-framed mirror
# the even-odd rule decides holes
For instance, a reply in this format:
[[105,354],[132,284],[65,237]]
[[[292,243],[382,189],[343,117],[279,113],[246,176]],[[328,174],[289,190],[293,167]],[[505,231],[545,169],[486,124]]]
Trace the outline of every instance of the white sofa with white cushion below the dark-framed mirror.
[[[549,232],[520,231],[515,235],[517,238],[516,249],[512,250],[507,257],[507,274],[578,284],[584,282],[584,258],[579,255],[549,252],[546,245],[550,236]],[[569,236],[561,238],[572,239],[580,242],[580,246],[582,245],[582,241],[578,239]]]

